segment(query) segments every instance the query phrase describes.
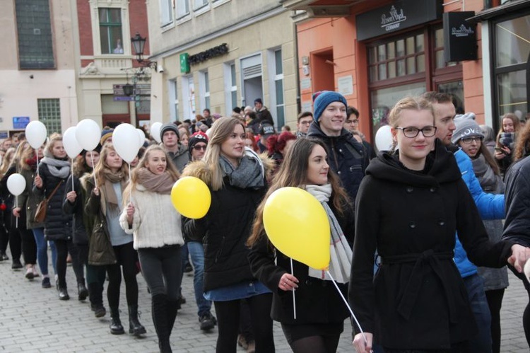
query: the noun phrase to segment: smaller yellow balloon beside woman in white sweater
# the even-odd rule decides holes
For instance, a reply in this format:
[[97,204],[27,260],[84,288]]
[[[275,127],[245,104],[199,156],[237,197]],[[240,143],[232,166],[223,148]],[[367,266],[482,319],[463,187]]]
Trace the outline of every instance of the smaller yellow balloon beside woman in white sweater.
[[171,188],[171,202],[182,216],[192,219],[202,218],[210,209],[210,189],[199,178],[183,177]]

